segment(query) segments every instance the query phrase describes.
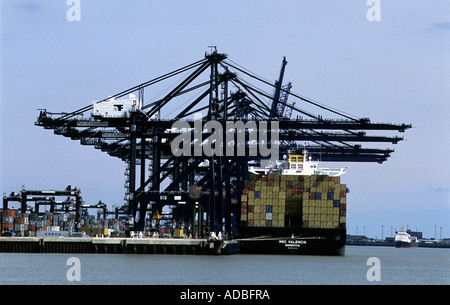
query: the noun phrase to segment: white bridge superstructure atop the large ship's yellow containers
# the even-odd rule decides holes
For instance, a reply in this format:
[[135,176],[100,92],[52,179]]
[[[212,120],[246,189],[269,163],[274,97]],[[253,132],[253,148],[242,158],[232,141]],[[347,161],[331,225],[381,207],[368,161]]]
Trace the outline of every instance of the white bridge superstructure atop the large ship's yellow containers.
[[313,161],[312,156],[308,155],[306,150],[302,154],[294,153],[289,154],[289,160],[286,155],[283,156],[283,160],[278,160],[276,164],[268,167],[254,167],[249,166],[249,172],[253,174],[266,175],[268,173],[279,175],[328,175],[332,177],[341,176],[346,173],[347,168],[323,168],[319,167],[318,161]]

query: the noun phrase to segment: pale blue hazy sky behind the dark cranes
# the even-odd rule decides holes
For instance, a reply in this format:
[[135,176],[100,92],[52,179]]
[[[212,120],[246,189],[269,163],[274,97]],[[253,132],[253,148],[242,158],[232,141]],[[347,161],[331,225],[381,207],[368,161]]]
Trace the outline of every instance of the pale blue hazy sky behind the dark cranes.
[[403,226],[450,237],[450,1],[380,0],[379,21],[366,0],[78,3],[72,14],[77,1],[1,1],[2,194],[72,185],[88,204],[121,206],[125,164],[34,126],[37,109],[77,110],[214,45],[270,81],[286,56],[292,91],[372,122],[412,124],[404,141],[381,146],[395,149],[387,162],[337,164],[347,167],[348,233],[381,238]]

